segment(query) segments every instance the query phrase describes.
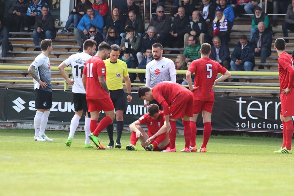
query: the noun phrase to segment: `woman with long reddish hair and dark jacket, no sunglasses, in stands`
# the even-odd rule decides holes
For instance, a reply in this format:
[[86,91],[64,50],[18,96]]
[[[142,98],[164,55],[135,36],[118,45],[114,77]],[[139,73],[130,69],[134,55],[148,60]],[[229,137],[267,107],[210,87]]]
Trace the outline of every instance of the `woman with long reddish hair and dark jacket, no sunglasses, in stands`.
[[[112,7],[111,15],[107,18],[106,29],[109,29],[109,27],[112,27],[118,34],[121,34],[125,28],[125,23],[117,6]],[[120,44],[117,45],[119,46]]]

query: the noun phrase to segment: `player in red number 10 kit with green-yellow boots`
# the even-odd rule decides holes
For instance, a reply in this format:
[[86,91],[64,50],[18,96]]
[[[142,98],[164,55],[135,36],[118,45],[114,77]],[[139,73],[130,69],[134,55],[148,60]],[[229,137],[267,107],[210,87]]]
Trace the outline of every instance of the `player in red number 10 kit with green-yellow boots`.
[[[106,85],[106,68],[103,62],[103,60],[109,58],[110,50],[111,48],[107,43],[100,43],[96,55],[86,61],[82,76],[83,86],[86,91],[88,111],[91,114],[91,134],[89,138],[94,142],[97,149],[105,149],[105,147],[101,145],[98,135],[113,122],[115,117],[113,103]],[[97,126],[101,110],[104,111],[106,116],[102,118]]]

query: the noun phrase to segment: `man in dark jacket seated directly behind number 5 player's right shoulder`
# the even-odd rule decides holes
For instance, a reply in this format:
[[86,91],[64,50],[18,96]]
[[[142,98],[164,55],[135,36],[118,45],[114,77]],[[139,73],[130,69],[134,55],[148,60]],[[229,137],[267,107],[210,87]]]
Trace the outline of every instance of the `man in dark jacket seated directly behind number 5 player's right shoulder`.
[[212,39],[213,46],[211,46],[211,53],[209,58],[227,70],[230,70],[230,50],[226,44],[221,44],[220,38],[218,36]]

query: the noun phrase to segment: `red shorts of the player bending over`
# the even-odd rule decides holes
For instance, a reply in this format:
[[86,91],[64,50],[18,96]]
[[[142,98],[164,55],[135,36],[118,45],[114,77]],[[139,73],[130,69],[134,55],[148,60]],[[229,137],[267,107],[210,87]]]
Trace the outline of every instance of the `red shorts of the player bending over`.
[[188,94],[182,100],[172,103],[169,112],[169,118],[183,118],[184,115],[193,116],[193,94]]

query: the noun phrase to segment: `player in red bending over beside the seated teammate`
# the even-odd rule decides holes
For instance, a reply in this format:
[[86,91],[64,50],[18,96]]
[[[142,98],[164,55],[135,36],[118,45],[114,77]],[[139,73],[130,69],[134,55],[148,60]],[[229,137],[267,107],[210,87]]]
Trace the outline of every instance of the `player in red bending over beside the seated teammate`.
[[185,149],[183,152],[191,152],[189,149],[191,137],[189,119],[193,115],[193,94],[178,83],[164,81],[156,84],[153,88],[140,87],[138,97],[147,101],[152,101],[154,98],[163,107],[170,140],[169,147],[163,152],[176,152],[176,120],[178,118],[183,120],[184,125]]

